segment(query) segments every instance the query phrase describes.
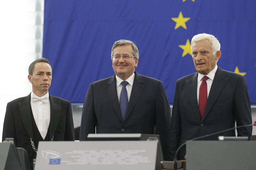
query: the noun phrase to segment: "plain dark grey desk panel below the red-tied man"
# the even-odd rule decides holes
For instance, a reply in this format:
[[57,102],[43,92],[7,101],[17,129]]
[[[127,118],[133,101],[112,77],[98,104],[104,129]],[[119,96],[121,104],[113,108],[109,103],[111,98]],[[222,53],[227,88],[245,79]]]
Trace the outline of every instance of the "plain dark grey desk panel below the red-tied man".
[[188,141],[187,170],[249,170],[256,167],[256,141]]

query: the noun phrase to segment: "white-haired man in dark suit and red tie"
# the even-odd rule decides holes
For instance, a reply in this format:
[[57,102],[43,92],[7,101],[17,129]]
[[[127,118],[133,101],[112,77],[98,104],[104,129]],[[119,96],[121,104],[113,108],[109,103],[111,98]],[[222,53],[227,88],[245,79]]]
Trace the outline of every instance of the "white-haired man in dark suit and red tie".
[[[176,82],[172,118],[172,160],[177,148],[187,140],[252,123],[250,98],[244,76],[217,66],[220,43],[209,34],[198,34],[191,41],[197,73]],[[207,77],[206,77],[207,76]],[[238,136],[252,135],[252,127],[237,129]],[[235,136],[235,130],[203,138]],[[178,154],[184,159],[185,147]]]

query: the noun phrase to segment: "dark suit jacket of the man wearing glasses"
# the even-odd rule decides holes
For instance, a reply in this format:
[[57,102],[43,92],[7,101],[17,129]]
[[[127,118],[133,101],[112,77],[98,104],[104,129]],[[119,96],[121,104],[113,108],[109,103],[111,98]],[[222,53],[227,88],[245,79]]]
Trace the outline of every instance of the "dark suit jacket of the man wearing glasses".
[[154,78],[135,78],[124,120],[121,117],[115,75],[90,84],[83,105],[80,140],[89,133],[160,135],[164,159],[169,159],[170,105],[163,84]]

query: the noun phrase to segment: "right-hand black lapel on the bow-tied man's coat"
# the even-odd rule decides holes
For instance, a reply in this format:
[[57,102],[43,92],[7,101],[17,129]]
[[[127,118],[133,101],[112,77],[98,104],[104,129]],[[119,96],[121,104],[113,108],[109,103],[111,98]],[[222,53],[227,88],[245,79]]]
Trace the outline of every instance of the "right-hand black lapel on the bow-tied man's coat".
[[50,99],[50,109],[51,109],[49,133],[51,137],[56,131],[56,128],[59,124],[61,105],[60,105],[60,100],[56,99],[54,96],[49,95],[49,99]]

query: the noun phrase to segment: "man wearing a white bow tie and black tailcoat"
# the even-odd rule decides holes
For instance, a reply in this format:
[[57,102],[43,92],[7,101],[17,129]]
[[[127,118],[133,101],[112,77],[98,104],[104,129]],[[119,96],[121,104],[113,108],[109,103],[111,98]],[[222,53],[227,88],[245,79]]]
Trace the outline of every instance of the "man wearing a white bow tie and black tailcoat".
[[32,92],[7,104],[3,137],[14,138],[16,147],[27,150],[30,166],[36,158],[39,141],[74,140],[74,124],[69,101],[49,95],[52,68],[45,58],[29,66]]

